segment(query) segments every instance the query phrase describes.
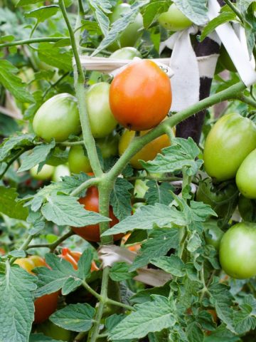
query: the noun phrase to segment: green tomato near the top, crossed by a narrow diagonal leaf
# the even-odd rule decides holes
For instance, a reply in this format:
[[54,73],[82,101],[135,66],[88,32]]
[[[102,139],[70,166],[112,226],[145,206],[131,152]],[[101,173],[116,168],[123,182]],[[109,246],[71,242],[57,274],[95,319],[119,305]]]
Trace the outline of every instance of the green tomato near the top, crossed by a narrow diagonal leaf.
[[[125,16],[125,14],[130,11],[130,7],[131,6],[129,4],[117,5],[114,8],[112,14],[110,14],[110,23],[114,23],[114,21],[117,21],[118,19],[122,18],[122,16]],[[122,48],[124,46],[134,46],[134,44],[137,42],[142,34],[142,28],[143,19],[142,14],[139,13],[134,19],[134,22],[132,24],[129,24],[119,36],[120,46],[117,42],[114,42],[108,48],[110,49],[110,51],[114,51],[117,50],[117,48],[119,47]]]

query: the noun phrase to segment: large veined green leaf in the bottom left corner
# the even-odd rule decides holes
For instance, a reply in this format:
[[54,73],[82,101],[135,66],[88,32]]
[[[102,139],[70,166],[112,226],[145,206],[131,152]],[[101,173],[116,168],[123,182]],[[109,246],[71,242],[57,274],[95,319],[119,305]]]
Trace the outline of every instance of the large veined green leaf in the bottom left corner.
[[0,274],[0,341],[28,341],[34,316],[34,281],[35,276],[17,265],[6,265],[6,274]]

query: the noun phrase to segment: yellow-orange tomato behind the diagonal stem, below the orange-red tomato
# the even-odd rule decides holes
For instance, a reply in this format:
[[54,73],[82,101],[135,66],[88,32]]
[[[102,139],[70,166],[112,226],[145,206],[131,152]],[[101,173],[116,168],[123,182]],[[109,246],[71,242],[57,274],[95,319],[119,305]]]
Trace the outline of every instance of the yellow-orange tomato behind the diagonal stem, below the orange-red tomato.
[[[148,131],[140,132],[140,135],[145,135]],[[120,142],[119,142],[119,155],[122,155],[127,147],[134,139],[135,132],[132,130],[125,130]],[[135,169],[142,169],[142,165],[139,160],[144,160],[147,162],[148,160],[153,160],[157,153],[161,152],[161,149],[170,145],[170,140],[168,135],[164,134],[161,137],[156,138],[142,147],[142,150],[136,153],[129,161],[132,167]]]

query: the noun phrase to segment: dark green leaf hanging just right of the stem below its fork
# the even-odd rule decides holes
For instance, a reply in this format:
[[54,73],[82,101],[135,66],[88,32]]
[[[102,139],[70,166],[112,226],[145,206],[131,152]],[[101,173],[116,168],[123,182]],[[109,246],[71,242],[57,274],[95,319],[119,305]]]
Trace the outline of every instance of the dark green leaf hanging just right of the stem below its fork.
[[110,204],[113,207],[114,215],[121,221],[127,216],[131,215],[131,192],[133,185],[124,180],[124,178],[117,178],[114,183],[114,188],[110,195]]

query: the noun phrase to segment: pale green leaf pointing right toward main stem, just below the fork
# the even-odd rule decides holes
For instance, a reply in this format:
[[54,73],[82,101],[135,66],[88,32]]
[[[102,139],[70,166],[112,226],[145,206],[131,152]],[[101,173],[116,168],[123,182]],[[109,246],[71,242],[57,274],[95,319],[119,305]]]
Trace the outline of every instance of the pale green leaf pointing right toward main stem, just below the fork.
[[78,198],[73,196],[52,194],[48,197],[48,202],[43,204],[41,212],[48,221],[60,226],[84,227],[110,221],[97,212],[85,210]]

